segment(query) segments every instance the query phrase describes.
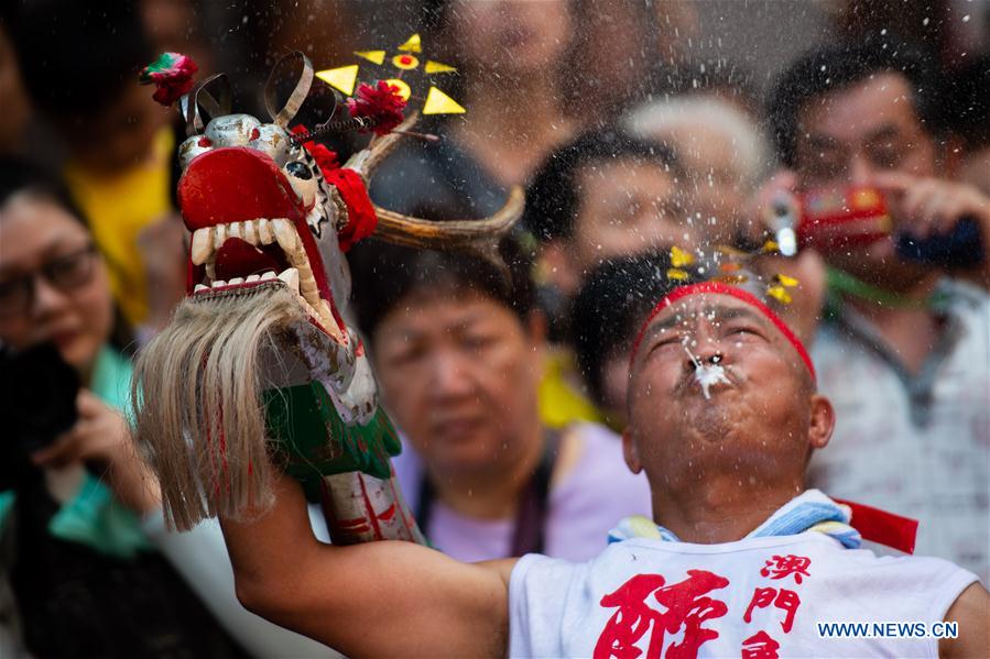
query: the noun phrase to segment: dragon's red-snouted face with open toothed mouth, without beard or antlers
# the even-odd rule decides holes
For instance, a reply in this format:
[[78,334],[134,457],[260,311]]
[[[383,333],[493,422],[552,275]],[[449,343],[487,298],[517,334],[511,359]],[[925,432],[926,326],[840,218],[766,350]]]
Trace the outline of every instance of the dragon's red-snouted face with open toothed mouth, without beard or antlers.
[[193,234],[189,293],[280,279],[316,327],[347,343],[337,308],[350,288],[337,240],[347,207],[313,156],[281,127],[231,114],[184,142],[179,157],[178,202]]

